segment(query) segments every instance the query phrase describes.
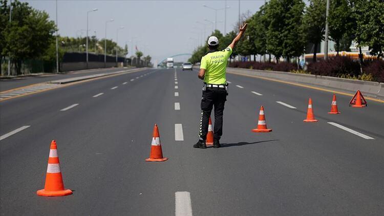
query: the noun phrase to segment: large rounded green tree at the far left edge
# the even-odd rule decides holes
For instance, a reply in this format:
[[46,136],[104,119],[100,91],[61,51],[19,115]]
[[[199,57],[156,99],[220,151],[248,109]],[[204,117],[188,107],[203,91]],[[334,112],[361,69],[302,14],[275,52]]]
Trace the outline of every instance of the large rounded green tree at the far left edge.
[[[5,0],[0,5],[6,5]],[[5,40],[2,55],[11,57],[16,73],[20,74],[23,60],[36,59],[46,53],[55,32],[55,23],[49,20],[46,12],[16,0],[12,3],[12,22],[7,24],[2,29]]]

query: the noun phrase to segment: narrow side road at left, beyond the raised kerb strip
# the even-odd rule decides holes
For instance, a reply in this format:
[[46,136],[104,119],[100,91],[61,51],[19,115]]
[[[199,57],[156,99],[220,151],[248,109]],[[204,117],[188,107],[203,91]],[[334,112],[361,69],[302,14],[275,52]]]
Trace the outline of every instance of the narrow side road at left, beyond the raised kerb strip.
[[117,72],[122,70],[126,70],[126,69],[123,69],[123,68],[91,69],[91,70],[83,70],[83,71],[73,71],[66,74],[45,74],[40,76],[26,76],[26,77],[12,78],[12,79],[1,79],[0,92],[19,88],[19,87],[25,87],[26,85],[36,84],[40,82],[48,82],[48,81],[58,80],[58,79],[87,76],[87,75],[93,75],[98,73]]

